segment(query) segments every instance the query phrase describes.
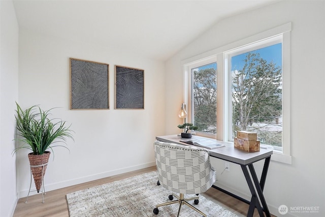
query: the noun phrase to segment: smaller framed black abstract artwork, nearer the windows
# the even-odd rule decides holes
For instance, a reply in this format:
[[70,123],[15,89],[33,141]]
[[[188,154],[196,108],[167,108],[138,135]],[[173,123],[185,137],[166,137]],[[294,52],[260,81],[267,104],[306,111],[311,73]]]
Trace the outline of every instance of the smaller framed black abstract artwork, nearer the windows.
[[144,109],[144,70],[115,66],[115,109]]

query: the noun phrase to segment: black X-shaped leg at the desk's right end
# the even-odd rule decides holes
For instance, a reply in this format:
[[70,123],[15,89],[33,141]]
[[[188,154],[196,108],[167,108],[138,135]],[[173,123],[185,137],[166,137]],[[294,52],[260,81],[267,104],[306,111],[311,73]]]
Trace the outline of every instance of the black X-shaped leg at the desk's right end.
[[[252,194],[247,216],[253,216],[255,207],[258,210],[259,216],[264,216],[263,211],[265,212],[267,217],[271,216],[268,206],[266,204],[264,195],[263,195],[263,190],[264,190],[266,175],[268,173],[268,169],[269,169],[269,165],[270,165],[270,160],[271,160],[271,157],[268,157],[265,159],[264,167],[263,167],[263,171],[262,171],[262,175],[261,175],[261,181],[258,181],[253,164],[241,165],[242,170],[245,175],[245,178],[246,178],[246,181],[247,181],[247,184],[248,184],[248,187],[249,187],[249,190]],[[249,168],[251,177],[247,170],[247,166]],[[255,189],[256,189],[256,191],[255,191]],[[261,203],[259,203],[258,198],[261,201]],[[262,204],[262,206],[261,206],[261,204]]]

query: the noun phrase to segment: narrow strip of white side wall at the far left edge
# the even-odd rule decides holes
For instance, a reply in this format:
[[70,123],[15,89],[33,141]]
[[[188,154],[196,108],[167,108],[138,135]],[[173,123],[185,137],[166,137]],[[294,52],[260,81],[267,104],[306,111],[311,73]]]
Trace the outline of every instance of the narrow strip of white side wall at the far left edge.
[[15,101],[18,100],[18,23],[12,1],[0,1],[0,216],[11,216],[16,185]]

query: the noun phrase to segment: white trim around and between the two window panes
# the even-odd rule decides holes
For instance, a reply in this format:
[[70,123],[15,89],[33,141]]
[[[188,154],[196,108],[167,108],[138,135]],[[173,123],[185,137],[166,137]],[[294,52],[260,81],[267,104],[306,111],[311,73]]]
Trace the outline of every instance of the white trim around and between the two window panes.
[[[218,114],[223,114],[223,115],[218,115],[217,116],[217,135],[216,139],[217,140],[222,140],[224,141],[225,138],[225,126],[227,124],[230,124],[229,121],[225,121],[224,117],[229,116],[227,112],[229,109],[225,109],[223,106],[218,106],[218,104],[221,102],[223,105],[225,105],[224,102],[224,85],[225,83],[225,78],[224,78],[224,70],[225,67],[228,67],[227,64],[224,61],[224,52],[231,51],[232,49],[239,48],[242,46],[247,46],[249,44],[253,44],[271,37],[275,37],[277,35],[282,35],[282,82],[283,82],[283,92],[282,92],[282,97],[283,97],[283,146],[282,146],[282,152],[278,150],[273,151],[273,155],[271,160],[272,161],[277,161],[281,163],[286,163],[286,164],[291,164],[292,159],[290,155],[290,31],[291,31],[291,22],[277,26],[275,28],[269,29],[265,32],[250,36],[248,38],[233,42],[231,44],[210,50],[208,52],[193,56],[191,58],[185,59],[181,62],[181,65],[183,66],[184,69],[184,102],[186,105],[188,105],[189,102],[189,86],[188,84],[188,79],[190,79],[190,69],[193,67],[196,67],[196,64],[203,65],[202,61],[210,61],[211,59],[216,59],[217,62],[217,72],[222,70],[222,73],[217,73],[217,113]],[[211,61],[210,61],[211,63]],[[187,107],[188,113],[190,114],[190,106]],[[191,121],[190,119],[188,122]],[[224,123],[224,124],[223,124]],[[229,128],[228,128],[229,129]]]

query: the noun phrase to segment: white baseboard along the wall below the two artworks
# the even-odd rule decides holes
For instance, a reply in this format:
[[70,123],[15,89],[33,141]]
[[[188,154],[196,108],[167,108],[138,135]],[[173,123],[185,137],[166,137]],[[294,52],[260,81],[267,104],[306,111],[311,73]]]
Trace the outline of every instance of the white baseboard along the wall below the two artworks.
[[[106,178],[106,177],[113,176],[113,175],[119,175],[119,174],[126,173],[126,172],[132,172],[135,170],[140,170],[140,169],[152,167],[155,165],[156,165],[156,162],[150,162],[150,163],[146,163],[146,164],[140,164],[140,165],[136,165],[136,166],[132,166],[132,167],[120,168],[120,169],[116,169],[116,170],[112,170],[112,171],[107,171],[104,173],[93,174],[93,175],[84,176],[84,177],[80,177],[80,178],[76,178],[76,179],[62,181],[62,182],[57,182],[57,183],[52,183],[52,184],[47,184],[47,185],[45,184],[45,192],[53,191],[53,190],[57,190],[57,189],[61,189],[61,188],[66,188],[66,187],[69,187],[69,186],[72,186],[75,184],[81,184],[81,183],[85,183],[88,181]],[[33,189],[31,189],[31,190],[33,190]],[[35,188],[34,188],[34,190],[35,190]],[[26,197],[27,194],[28,194],[28,189],[20,191],[18,197],[19,198],[20,198],[20,196]],[[36,195],[36,194],[38,194],[36,191],[30,192],[29,196]]]

